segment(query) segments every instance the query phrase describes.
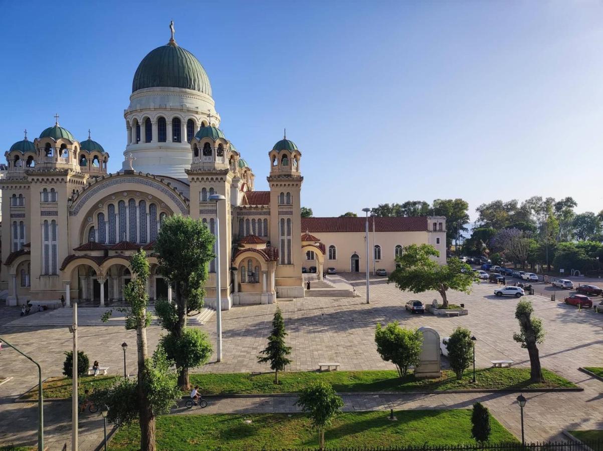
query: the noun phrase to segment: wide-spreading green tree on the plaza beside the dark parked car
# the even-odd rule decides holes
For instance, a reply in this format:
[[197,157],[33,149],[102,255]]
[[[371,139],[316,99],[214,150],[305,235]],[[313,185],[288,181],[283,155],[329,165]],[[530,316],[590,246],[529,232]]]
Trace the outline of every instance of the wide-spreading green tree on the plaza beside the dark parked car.
[[394,282],[399,289],[414,293],[433,289],[440,293],[442,306],[446,309],[446,292],[452,288],[469,293],[476,276],[471,266],[456,257],[449,259],[447,265],[439,265],[432,259],[439,255],[430,244],[404,247],[402,255],[396,257],[397,268],[388,277],[388,282]]

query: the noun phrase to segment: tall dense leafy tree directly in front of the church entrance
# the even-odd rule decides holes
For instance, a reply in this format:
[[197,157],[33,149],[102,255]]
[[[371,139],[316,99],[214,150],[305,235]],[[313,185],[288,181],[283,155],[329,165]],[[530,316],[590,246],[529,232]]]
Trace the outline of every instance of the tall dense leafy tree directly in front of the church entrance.
[[172,335],[164,344],[168,359],[176,364],[178,385],[183,390],[190,386],[189,368],[207,362],[207,338],[186,335],[186,318],[189,312],[203,306],[207,266],[215,257],[214,241],[215,237],[203,222],[171,216],[163,221],[155,242],[159,273],[174,285],[174,303],[157,301],[155,311],[159,324]]

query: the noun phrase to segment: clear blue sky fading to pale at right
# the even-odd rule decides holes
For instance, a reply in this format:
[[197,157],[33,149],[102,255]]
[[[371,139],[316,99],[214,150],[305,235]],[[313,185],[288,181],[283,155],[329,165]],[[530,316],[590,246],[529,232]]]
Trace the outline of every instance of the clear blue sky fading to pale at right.
[[136,68],[175,40],[209,75],[221,128],[268,189],[297,144],[301,203],[572,196],[603,209],[601,1],[0,0],[0,148],[54,124],[121,168]]

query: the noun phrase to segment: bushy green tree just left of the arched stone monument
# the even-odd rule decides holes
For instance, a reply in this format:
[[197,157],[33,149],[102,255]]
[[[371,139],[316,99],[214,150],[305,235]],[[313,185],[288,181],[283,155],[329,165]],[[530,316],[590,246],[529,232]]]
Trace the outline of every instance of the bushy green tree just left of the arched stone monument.
[[400,327],[397,321],[385,327],[377,324],[375,343],[381,358],[396,365],[398,375],[402,377],[406,376],[409,367],[418,365],[423,333],[417,329]]

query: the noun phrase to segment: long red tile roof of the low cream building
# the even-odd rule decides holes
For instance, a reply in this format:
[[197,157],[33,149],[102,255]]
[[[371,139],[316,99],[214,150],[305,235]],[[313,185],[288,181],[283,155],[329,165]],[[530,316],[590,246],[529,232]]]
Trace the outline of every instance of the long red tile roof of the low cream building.
[[[301,230],[308,232],[364,232],[366,218],[301,218]],[[412,218],[374,218],[375,232],[426,232],[426,216]],[[368,218],[368,230],[373,231],[373,218]]]

